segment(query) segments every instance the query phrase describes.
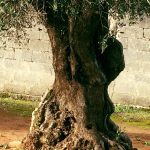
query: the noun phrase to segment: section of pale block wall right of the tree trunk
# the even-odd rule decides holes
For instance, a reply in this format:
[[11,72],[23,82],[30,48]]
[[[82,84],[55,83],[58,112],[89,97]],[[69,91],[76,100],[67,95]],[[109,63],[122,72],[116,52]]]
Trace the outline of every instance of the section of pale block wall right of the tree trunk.
[[110,86],[115,103],[150,107],[150,18],[119,28],[126,68]]

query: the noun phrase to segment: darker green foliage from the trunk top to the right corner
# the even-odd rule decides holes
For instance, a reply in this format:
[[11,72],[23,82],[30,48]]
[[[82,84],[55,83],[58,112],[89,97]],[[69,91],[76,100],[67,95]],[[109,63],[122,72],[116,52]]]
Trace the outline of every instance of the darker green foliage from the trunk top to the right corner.
[[142,18],[150,15],[149,0],[80,0],[73,2],[71,0],[53,0],[50,7],[54,11],[61,11],[68,15],[78,15],[86,8],[87,5],[93,7],[96,13],[101,13],[101,8],[106,4],[109,8],[109,14],[115,18],[123,19],[126,15],[129,19]]

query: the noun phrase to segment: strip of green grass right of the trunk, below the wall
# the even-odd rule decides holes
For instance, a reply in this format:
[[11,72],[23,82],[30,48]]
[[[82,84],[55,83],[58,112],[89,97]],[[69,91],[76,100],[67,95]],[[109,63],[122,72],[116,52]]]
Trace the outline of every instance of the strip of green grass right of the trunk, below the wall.
[[116,106],[112,120],[117,123],[124,122],[128,125],[150,129],[150,109]]

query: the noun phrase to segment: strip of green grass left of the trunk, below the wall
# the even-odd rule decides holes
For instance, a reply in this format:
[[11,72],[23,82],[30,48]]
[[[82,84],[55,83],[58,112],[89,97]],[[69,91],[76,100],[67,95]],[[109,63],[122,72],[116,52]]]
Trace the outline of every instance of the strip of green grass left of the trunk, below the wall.
[[35,107],[38,105],[37,101],[14,100],[12,98],[0,98],[0,108],[23,117],[30,117]]

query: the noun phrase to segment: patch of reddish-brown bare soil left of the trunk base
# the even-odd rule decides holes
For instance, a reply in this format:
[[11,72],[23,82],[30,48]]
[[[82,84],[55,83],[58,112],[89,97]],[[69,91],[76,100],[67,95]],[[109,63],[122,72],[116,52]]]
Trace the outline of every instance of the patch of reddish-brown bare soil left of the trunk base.
[[0,145],[21,140],[30,127],[31,118],[12,115],[0,109]]

